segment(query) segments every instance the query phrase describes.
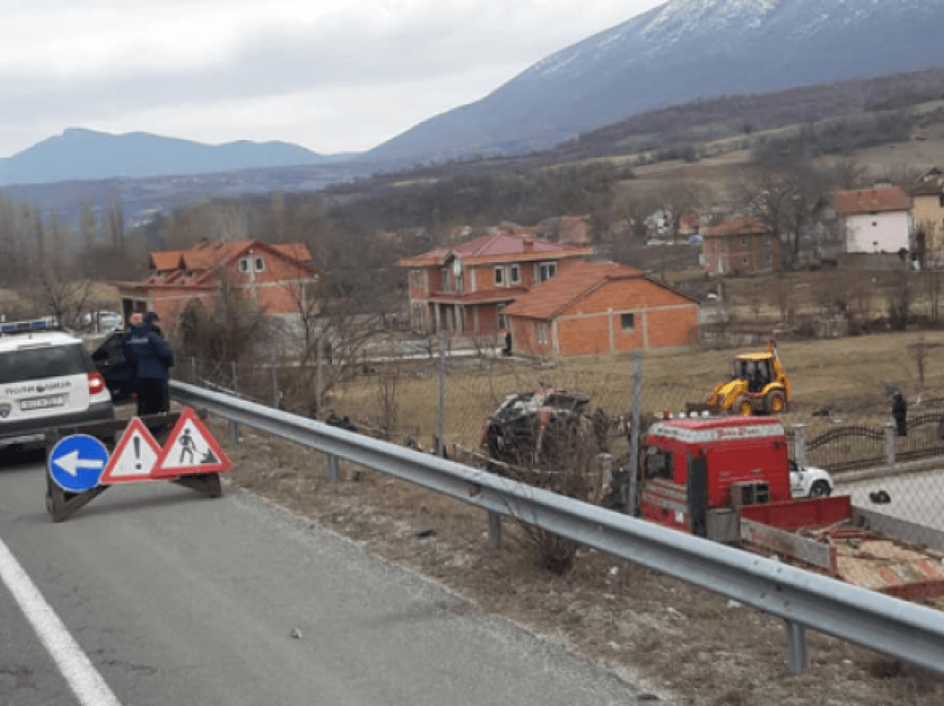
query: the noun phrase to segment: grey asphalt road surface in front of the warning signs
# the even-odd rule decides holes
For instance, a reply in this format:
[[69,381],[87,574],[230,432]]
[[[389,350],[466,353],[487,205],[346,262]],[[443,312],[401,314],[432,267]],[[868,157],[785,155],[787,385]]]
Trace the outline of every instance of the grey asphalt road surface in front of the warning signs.
[[[44,483],[36,460],[0,467],[0,576],[23,569],[68,633],[47,642],[71,636],[93,673],[79,680],[97,673],[112,703],[580,706],[640,694],[249,494],[117,486],[53,524]],[[9,584],[0,704],[100,706],[63,676]]]

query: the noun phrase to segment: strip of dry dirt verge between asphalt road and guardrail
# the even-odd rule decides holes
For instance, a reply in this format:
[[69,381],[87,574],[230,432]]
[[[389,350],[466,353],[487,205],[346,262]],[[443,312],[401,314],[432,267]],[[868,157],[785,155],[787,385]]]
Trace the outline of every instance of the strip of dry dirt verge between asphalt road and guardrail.
[[[227,440],[225,423],[211,421]],[[488,546],[479,508],[351,464],[328,481],[322,454],[242,430],[228,446],[227,492],[251,492],[349,537],[365,552],[454,591],[470,609],[566,643],[647,690],[643,700],[710,706],[885,706],[944,703],[944,680],[807,631],[811,668],[786,668],[783,624],[687,584],[581,551],[556,576],[506,522]]]

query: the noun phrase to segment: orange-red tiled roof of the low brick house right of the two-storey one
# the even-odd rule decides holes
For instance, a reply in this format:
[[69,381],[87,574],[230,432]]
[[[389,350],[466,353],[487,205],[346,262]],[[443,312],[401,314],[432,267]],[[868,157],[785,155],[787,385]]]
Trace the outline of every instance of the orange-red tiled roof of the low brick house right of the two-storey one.
[[[645,280],[642,271],[615,262],[575,262],[556,276],[519,296],[505,314],[548,320],[615,280]],[[651,283],[654,286],[657,284]]]

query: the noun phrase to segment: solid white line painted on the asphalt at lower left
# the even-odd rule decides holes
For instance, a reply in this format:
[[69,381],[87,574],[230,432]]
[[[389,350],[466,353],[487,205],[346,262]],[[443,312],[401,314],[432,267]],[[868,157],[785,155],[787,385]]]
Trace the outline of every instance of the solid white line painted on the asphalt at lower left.
[[13,594],[82,706],[121,706],[101,674],[66,629],[30,577],[0,539],[0,579]]

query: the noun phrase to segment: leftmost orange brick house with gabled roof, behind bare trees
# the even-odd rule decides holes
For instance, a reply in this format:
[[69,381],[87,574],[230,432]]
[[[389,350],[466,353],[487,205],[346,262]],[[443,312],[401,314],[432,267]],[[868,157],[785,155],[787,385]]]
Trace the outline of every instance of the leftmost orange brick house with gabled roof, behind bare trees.
[[253,297],[267,315],[292,316],[318,279],[310,261],[311,253],[301,243],[257,240],[202,242],[188,250],[153,252],[151,274],[120,288],[124,317],[154,311],[162,327],[171,332],[191,300],[212,304],[222,282]]

